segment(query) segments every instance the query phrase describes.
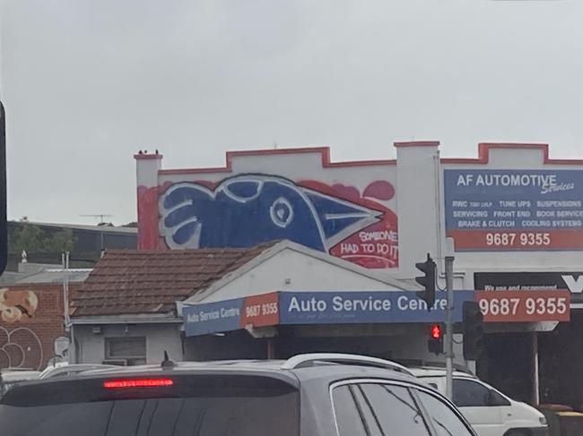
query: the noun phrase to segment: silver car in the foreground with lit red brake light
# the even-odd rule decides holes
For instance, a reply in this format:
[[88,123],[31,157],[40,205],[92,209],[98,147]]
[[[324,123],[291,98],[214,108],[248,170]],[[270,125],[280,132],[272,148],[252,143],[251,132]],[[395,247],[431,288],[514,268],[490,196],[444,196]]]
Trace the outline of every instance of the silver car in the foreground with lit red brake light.
[[30,382],[3,436],[475,436],[397,363],[358,355],[119,367]]

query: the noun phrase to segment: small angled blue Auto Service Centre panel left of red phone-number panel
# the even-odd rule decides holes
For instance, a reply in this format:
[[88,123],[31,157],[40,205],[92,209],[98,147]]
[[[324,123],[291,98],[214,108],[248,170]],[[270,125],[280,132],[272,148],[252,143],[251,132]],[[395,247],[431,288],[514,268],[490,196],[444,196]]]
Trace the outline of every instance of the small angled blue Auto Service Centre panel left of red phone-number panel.
[[239,329],[244,298],[184,306],[184,329],[189,336],[201,336]]

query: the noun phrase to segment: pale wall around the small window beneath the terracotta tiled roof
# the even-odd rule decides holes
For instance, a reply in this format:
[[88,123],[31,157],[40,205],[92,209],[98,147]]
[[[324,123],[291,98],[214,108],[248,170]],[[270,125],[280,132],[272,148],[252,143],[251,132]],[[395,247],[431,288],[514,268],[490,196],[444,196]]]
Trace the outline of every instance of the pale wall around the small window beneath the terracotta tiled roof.
[[179,324],[102,325],[100,333],[93,326],[74,326],[77,363],[101,363],[105,359],[105,338],[145,337],[146,363],[161,363],[164,351],[175,362],[183,360]]

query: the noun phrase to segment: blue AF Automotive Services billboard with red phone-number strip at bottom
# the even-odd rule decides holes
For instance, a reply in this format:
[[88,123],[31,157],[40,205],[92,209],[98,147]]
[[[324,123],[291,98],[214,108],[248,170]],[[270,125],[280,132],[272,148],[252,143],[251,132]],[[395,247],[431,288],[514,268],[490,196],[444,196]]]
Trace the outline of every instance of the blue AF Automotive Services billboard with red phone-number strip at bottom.
[[445,170],[459,251],[582,250],[583,171]]

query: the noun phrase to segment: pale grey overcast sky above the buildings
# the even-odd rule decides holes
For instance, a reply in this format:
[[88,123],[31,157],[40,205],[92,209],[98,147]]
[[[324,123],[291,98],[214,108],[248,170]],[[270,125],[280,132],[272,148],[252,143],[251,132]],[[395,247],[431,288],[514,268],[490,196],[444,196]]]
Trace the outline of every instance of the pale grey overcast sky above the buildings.
[[583,1],[0,0],[10,218],[135,219],[139,149],[549,142],[583,158]]

